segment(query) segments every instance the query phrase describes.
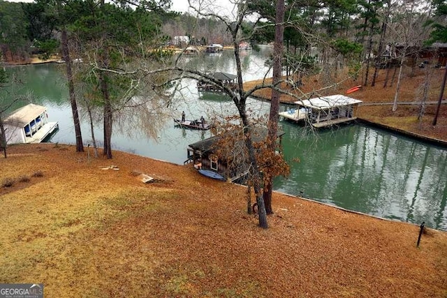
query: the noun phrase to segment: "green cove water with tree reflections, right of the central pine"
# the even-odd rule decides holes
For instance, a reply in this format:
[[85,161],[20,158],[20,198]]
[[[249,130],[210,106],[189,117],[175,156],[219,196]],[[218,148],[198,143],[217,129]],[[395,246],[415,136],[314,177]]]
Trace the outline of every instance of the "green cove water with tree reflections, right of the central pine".
[[446,149],[360,124],[316,134],[281,125],[291,176],[277,191],[447,230]]

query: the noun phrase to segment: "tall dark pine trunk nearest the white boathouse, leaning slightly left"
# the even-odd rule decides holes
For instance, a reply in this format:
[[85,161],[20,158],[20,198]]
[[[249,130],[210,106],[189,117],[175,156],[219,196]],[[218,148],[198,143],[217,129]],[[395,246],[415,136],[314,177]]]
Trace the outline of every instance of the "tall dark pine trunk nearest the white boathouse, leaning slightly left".
[[62,29],[61,40],[62,40],[62,57],[64,58],[65,61],[67,80],[68,80],[68,94],[70,96],[71,113],[73,114],[73,124],[75,126],[76,151],[83,152],[84,145],[82,144],[82,133],[79,121],[78,105],[76,103],[73,72],[71,70],[71,58],[70,58],[70,52],[68,51],[68,38],[67,38],[67,31],[65,28]]

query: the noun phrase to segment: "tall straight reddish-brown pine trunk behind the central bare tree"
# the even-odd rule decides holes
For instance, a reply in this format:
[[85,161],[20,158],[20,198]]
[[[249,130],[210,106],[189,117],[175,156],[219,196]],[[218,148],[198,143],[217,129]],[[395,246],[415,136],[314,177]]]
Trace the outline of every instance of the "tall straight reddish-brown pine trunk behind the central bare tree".
[[[274,31],[274,61],[273,61],[273,85],[277,87],[281,81],[281,59],[283,52],[283,40],[284,40],[284,0],[277,0],[277,14],[275,20]],[[281,94],[276,89],[272,90],[272,98],[270,101],[270,116],[268,121],[268,142],[269,149],[274,154],[276,149],[276,140],[278,134],[278,112],[279,112],[279,96]],[[264,184],[264,203],[265,211],[267,214],[273,214],[272,209],[272,188],[273,177],[270,173],[265,173]]]

